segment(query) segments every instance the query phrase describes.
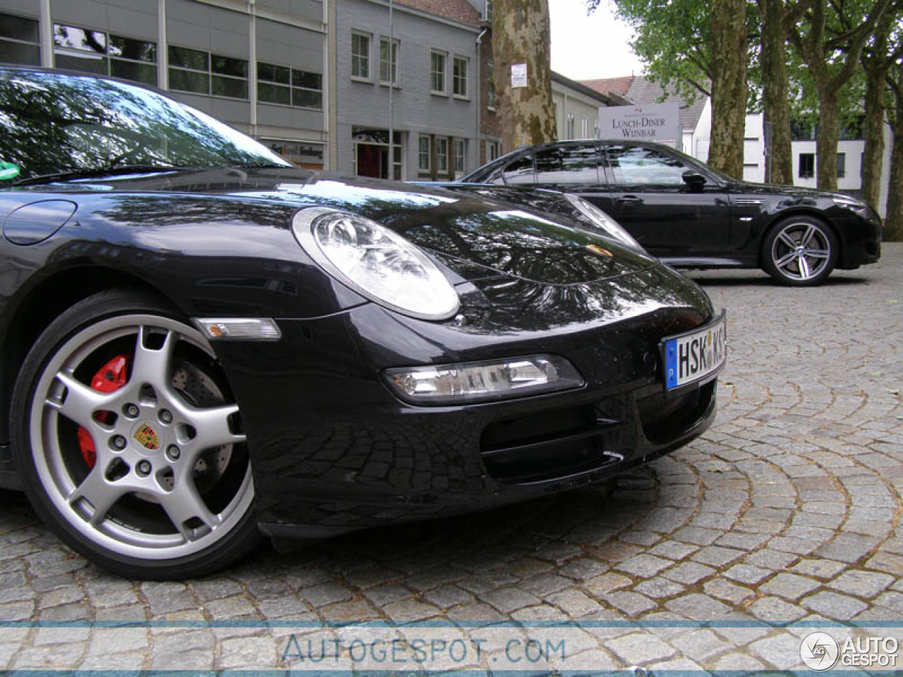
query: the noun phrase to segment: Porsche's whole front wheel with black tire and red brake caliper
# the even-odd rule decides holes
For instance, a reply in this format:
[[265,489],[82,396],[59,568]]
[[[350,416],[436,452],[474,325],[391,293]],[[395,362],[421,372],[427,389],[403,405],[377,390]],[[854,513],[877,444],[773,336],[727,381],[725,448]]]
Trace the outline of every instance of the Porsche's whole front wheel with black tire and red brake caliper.
[[19,372],[12,424],[34,509],[100,567],[200,576],[260,538],[226,378],[200,332],[154,297],[100,292],[54,320]]

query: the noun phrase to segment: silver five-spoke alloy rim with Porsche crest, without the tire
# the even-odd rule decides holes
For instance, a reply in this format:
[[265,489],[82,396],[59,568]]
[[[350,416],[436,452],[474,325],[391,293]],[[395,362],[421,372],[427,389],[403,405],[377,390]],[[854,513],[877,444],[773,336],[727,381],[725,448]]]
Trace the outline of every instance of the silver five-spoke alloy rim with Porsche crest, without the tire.
[[[131,375],[116,391],[98,392],[85,369],[112,357],[114,345],[134,349]],[[200,552],[231,533],[254,499],[250,463],[232,453],[245,442],[233,430],[238,407],[191,402],[180,387],[181,346],[206,353],[212,364],[200,333],[182,322],[144,314],[100,320],[52,355],[34,390],[29,434],[42,487],[71,527],[110,552],[154,561]],[[92,466],[73,453],[79,426],[94,441]],[[232,459],[240,464],[234,487],[211,508],[199,468]],[[122,509],[124,501],[131,510]]]

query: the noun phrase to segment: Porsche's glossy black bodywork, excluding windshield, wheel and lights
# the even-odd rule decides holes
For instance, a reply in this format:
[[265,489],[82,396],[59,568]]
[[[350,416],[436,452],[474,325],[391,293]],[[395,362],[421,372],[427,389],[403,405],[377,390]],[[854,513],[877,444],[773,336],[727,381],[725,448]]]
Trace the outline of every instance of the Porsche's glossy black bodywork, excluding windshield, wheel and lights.
[[[5,190],[0,220],[24,205],[62,197],[78,209],[55,235],[29,246],[5,243],[14,254],[7,260],[14,262],[15,274],[7,264],[0,287],[0,349],[22,354],[25,346],[18,345],[14,329],[27,323],[29,297],[71,272],[134,276],[188,317],[274,317],[284,330],[279,344],[215,346],[256,440],[255,482],[265,496],[266,522],[320,524],[322,511],[331,514],[358,502],[386,505],[395,511],[392,519],[442,514],[573,486],[580,481],[573,475],[600,478],[606,474],[600,468],[611,472],[619,464],[600,457],[598,467],[575,463],[582,469],[563,468],[527,481],[528,487],[522,481],[500,483],[481,466],[481,435],[503,422],[536,416],[551,422],[569,412],[576,419],[563,437],[591,429],[592,412],[617,419],[616,410],[637,406],[637,397],[661,396],[658,341],[712,317],[703,292],[660,264],[612,243],[607,246],[617,256],[591,255],[582,246],[591,236],[535,213],[529,246],[499,245],[498,232],[480,235],[485,224],[468,227],[461,219],[517,213],[521,220],[513,227],[504,219],[501,226],[492,224],[510,238],[523,230],[530,213],[523,204],[485,195],[462,199],[461,190],[383,182],[361,188],[340,177],[312,178],[294,170],[173,172],[70,181],[52,191]],[[433,251],[455,274],[467,325],[398,316],[321,274],[289,224],[298,209],[324,204],[379,219]],[[517,251],[516,261],[507,261],[506,251]],[[400,402],[378,377],[390,366],[510,357],[535,353],[537,346],[571,359],[587,380],[584,391],[424,412]],[[14,376],[10,366],[4,365],[6,383]],[[712,394],[703,399],[684,437],[699,434],[711,419]],[[630,425],[638,421],[633,414],[620,416]],[[662,450],[643,441],[637,429],[604,435],[628,459]],[[330,441],[343,450],[340,458],[331,459]],[[672,443],[677,442],[667,446]],[[339,459],[340,471],[330,462]],[[330,507],[318,507],[322,501]],[[353,505],[343,526],[376,524],[386,516],[368,508],[352,519]]]

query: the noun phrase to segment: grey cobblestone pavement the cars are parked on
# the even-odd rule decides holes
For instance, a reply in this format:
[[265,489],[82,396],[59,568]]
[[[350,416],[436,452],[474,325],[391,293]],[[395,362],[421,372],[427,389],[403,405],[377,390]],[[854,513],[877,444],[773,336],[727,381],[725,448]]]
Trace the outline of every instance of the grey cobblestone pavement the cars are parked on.
[[[290,554],[266,547],[217,576],[166,583],[96,569],[21,496],[0,495],[0,620],[58,623],[7,627],[0,668],[111,655],[144,669],[280,667],[284,635],[265,620],[903,620],[903,246],[817,289],[759,272],[691,276],[730,318],[718,421],[611,487]],[[251,623],[105,626],[145,620]],[[679,625],[654,642],[623,630],[593,660],[777,664],[758,631],[737,652],[730,630]]]

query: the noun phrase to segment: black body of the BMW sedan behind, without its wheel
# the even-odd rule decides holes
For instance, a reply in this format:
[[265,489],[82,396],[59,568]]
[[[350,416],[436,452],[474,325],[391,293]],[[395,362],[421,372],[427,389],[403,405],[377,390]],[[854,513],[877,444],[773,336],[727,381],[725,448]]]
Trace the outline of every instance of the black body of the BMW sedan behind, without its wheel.
[[[568,171],[567,163],[577,162],[573,153],[582,153],[580,160],[590,162],[588,149],[596,151],[592,160],[598,163],[596,171]],[[646,162],[661,164],[618,171],[624,156],[640,152],[649,153]],[[530,156],[532,172],[525,170]],[[656,173],[656,167],[666,171]],[[685,171],[704,181],[681,180]],[[761,267],[768,231],[792,216],[819,218],[833,229],[840,240],[839,268],[857,268],[880,257],[881,221],[870,206],[863,203],[862,214],[857,214],[835,203],[839,194],[735,181],[659,144],[620,140],[540,144],[508,153],[461,181],[580,195],[615,218],[650,254],[682,267]]]

